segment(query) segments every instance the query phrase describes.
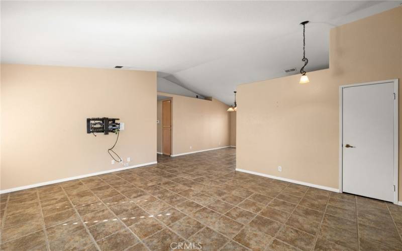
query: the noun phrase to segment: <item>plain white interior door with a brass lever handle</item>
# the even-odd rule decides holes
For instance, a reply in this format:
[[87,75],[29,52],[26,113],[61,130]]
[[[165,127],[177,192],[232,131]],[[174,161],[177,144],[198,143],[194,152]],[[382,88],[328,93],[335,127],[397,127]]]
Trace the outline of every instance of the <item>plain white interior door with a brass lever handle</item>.
[[343,191],[394,200],[394,83],[342,88]]

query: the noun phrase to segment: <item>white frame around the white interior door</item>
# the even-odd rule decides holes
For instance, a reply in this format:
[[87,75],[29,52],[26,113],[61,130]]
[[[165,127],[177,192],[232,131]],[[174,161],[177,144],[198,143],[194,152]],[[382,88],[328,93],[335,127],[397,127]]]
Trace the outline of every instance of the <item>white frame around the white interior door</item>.
[[393,203],[398,204],[398,79],[390,79],[384,81],[375,81],[359,84],[348,84],[339,86],[339,192],[342,193],[343,184],[343,89],[352,86],[372,85],[393,83],[393,92],[395,93],[395,100],[393,102],[393,185],[395,191],[393,194]]

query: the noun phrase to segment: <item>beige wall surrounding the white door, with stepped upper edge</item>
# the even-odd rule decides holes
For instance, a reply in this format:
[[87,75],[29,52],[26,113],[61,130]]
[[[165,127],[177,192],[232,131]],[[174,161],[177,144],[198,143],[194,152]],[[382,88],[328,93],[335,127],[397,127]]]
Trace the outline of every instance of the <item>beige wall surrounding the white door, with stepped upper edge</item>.
[[330,68],[308,76],[238,86],[237,168],[338,188],[339,86],[402,78],[402,7],[333,29]]

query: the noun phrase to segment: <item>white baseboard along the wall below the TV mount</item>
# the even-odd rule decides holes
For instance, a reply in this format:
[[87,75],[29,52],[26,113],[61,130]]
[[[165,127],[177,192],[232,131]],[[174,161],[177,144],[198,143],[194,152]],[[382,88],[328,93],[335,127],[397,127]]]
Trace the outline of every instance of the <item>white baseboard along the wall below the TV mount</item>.
[[51,184],[60,183],[60,182],[64,182],[64,181],[82,179],[82,178],[86,178],[86,177],[90,177],[90,176],[95,176],[95,175],[100,175],[100,174],[106,174],[106,173],[112,173],[112,172],[127,170],[127,169],[131,169],[131,168],[136,168],[136,167],[143,167],[143,166],[148,166],[148,165],[153,165],[153,164],[157,164],[157,162],[154,161],[154,162],[142,163],[142,164],[138,164],[138,165],[134,165],[134,166],[116,168],[116,169],[111,169],[111,170],[107,170],[107,171],[102,171],[102,172],[97,172],[97,173],[90,173],[90,174],[84,174],[84,175],[79,175],[79,176],[74,176],[74,177],[59,179],[59,180],[51,180],[51,181],[36,183],[36,184],[28,185],[28,186],[14,187],[14,188],[10,188],[10,189],[0,190],[0,194],[2,194],[2,193],[10,193],[10,192],[15,192],[15,191],[20,191],[20,190],[29,189],[29,188],[34,188],[34,187],[41,187],[41,186],[51,185]]

